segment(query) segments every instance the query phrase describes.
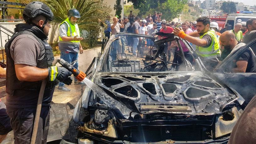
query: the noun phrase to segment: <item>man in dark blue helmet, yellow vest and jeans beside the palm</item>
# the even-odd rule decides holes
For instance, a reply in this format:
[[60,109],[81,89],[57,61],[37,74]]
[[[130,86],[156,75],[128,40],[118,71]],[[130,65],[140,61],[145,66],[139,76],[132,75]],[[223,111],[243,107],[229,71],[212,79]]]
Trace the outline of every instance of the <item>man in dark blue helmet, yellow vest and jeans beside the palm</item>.
[[[68,18],[59,25],[59,50],[60,58],[64,59],[68,63],[72,63],[78,60],[78,52],[83,53],[83,48],[80,41],[83,37],[80,37],[80,31],[77,25],[77,20],[80,18],[80,13],[76,9],[70,9]],[[78,69],[78,61],[76,61],[74,67]],[[75,79],[75,77],[74,77]],[[80,82],[75,79],[75,84],[85,85],[84,82]],[[70,91],[65,87],[64,83],[59,82],[58,91]]]

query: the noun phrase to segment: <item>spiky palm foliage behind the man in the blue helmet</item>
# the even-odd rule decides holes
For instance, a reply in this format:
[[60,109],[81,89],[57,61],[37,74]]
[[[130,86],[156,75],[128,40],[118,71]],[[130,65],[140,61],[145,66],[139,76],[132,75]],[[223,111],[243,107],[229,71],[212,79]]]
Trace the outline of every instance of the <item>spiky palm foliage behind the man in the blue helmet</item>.
[[68,11],[75,8],[79,11],[81,18],[77,24],[81,30],[88,31],[89,45],[94,47],[97,38],[102,32],[103,22],[112,11],[103,0],[43,0],[53,11],[54,21],[63,22],[68,17]]

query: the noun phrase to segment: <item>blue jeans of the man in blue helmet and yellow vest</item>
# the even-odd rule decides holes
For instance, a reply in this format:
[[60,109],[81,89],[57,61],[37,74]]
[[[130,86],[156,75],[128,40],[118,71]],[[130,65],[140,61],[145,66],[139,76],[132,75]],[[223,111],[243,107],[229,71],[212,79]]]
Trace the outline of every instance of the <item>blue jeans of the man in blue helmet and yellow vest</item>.
[[[78,60],[78,53],[60,52],[60,58],[64,59],[65,61],[71,64],[75,60]],[[78,61],[76,61],[74,67],[78,69]],[[74,76],[74,79],[75,81],[77,81],[75,76]],[[65,84],[63,82],[59,82],[59,86],[64,86],[64,85]]]

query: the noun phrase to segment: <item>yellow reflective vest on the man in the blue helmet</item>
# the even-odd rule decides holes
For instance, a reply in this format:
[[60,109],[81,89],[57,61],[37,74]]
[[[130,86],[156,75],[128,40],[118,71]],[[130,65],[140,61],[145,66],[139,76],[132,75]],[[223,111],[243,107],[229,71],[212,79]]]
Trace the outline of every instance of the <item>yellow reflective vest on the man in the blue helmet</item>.
[[[67,18],[66,20],[64,20],[60,25],[62,25],[63,23],[66,23],[68,25],[68,31],[67,31],[67,36],[68,37],[80,37],[80,31],[78,28],[78,25],[75,24],[71,24],[69,18]],[[60,27],[59,25],[59,27]],[[67,44],[74,44],[74,45],[79,45],[80,41],[63,41],[62,38],[59,36],[59,42],[60,43],[67,43]]]

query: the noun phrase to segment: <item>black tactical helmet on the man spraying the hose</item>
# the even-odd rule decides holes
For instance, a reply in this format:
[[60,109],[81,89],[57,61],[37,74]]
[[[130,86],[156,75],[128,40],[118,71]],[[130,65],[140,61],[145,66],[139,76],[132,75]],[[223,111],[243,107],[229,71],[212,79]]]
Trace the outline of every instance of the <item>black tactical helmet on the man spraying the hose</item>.
[[53,12],[51,9],[42,2],[31,2],[24,8],[23,15],[33,19],[38,15],[44,15],[48,21],[53,21]]

